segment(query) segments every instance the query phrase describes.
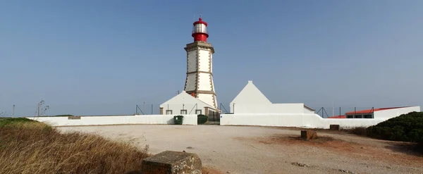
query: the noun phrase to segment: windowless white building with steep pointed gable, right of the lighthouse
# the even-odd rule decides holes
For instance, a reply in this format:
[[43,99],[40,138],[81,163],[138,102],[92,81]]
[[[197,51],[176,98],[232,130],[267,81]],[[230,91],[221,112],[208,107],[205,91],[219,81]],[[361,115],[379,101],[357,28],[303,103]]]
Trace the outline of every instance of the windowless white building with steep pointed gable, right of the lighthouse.
[[305,104],[272,104],[260,90],[248,81],[229,106],[231,113],[314,113]]

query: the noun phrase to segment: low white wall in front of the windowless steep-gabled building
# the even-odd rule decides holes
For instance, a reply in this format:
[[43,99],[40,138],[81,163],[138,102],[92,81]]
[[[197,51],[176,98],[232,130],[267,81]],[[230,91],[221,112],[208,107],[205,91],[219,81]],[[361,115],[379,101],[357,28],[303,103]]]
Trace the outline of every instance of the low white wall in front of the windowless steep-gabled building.
[[222,114],[220,125],[260,125],[298,128],[324,128],[340,125],[340,128],[352,128],[376,125],[386,119],[369,118],[321,118],[315,113],[266,113],[266,114]]

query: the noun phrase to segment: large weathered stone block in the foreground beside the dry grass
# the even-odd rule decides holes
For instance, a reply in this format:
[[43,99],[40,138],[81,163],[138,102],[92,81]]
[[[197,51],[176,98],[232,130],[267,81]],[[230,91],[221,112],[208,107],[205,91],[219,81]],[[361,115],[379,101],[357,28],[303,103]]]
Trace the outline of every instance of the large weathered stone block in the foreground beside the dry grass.
[[197,154],[163,151],[142,160],[142,174],[201,174],[202,162]]

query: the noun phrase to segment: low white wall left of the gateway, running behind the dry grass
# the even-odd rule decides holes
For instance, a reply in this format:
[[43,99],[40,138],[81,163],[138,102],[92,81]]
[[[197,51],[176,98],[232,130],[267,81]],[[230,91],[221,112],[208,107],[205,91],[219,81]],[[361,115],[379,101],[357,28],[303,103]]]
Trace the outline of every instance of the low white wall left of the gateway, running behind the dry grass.
[[[183,115],[183,125],[197,125],[197,115]],[[77,125],[172,125],[173,115],[137,115],[137,116],[78,116],[68,117],[28,117],[32,120],[47,123],[52,126]]]

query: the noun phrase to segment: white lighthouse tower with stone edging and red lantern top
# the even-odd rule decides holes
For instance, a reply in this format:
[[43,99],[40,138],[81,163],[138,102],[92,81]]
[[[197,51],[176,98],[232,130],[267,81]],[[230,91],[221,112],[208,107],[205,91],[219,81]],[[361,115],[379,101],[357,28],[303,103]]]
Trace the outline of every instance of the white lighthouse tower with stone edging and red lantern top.
[[212,44],[207,43],[207,37],[209,37],[207,23],[200,16],[193,25],[194,42],[185,47],[185,51],[187,51],[185,92],[217,109],[213,83],[214,48]]

